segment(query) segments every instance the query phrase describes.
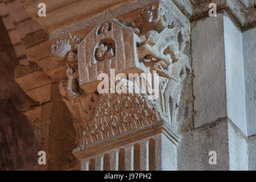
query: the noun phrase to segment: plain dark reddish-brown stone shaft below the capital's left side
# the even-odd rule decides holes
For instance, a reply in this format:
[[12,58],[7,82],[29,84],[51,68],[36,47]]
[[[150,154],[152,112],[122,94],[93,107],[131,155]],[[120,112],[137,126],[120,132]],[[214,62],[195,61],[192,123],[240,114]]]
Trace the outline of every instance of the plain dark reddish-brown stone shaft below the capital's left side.
[[59,85],[51,86],[51,122],[49,123],[48,170],[79,170],[80,162],[72,155],[76,148],[72,114],[62,101]]

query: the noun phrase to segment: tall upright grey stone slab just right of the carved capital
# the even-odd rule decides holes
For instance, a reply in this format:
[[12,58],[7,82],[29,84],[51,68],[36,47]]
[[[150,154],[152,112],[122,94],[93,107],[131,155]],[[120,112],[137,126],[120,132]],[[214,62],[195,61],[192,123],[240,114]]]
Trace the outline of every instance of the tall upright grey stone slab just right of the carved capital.
[[195,127],[227,116],[223,14],[193,22]]

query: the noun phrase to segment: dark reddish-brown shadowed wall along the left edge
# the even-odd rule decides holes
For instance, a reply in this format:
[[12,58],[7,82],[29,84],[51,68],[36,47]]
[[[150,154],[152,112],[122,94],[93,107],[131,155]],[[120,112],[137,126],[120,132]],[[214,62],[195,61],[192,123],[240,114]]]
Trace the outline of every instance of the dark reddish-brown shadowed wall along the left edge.
[[[2,5],[0,3],[1,14],[4,13]],[[20,47],[21,39],[16,41],[15,36],[9,38],[13,34],[12,29],[9,27],[6,30],[6,22],[4,23],[4,19],[8,17],[9,15],[0,18],[0,170],[36,170],[39,131],[23,115],[22,98],[26,95],[14,81],[14,67],[19,64],[20,59],[27,57],[18,54],[23,51],[23,47]]]

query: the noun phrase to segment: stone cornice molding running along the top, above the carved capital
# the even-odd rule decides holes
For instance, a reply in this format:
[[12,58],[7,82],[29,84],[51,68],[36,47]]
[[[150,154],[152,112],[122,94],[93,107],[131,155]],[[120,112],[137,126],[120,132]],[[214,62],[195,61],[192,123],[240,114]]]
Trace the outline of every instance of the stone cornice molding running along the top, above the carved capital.
[[[38,1],[24,0],[24,9],[30,16],[42,26],[50,35],[50,40],[68,34],[68,31],[76,32],[93,24],[103,23],[106,20],[116,18],[140,7],[152,3],[163,3],[164,5],[176,5],[190,21],[208,15],[209,3],[216,3],[218,10],[226,10],[241,29],[255,26],[255,6],[253,0],[213,0],[213,1],[101,1],[97,6],[93,1],[51,1],[46,0],[47,16],[38,17]],[[74,21],[74,19],[76,19]]]

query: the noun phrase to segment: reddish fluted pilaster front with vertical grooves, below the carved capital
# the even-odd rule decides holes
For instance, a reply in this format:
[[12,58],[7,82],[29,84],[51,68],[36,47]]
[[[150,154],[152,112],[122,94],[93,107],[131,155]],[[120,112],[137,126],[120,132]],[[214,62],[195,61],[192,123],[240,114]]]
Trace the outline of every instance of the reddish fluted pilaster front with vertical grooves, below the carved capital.
[[155,148],[158,147],[156,142],[159,141],[155,141],[154,138],[147,138],[125,147],[118,147],[103,154],[94,155],[82,161],[81,170],[159,170],[158,162],[155,161]]

